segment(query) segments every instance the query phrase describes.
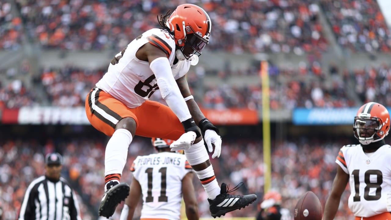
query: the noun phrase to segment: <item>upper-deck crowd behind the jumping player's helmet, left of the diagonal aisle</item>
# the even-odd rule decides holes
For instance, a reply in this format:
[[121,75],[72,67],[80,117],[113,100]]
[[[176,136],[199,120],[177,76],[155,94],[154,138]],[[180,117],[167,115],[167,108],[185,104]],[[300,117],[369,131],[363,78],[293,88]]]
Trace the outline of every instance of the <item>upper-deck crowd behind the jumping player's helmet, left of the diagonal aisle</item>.
[[[319,7],[310,0],[188,3],[199,4],[213,20],[209,49],[296,54],[327,49],[318,21]],[[11,4],[4,6],[3,16],[0,13],[4,18],[0,48],[16,48],[13,45],[20,44],[18,39],[24,34],[44,48],[118,50],[156,27],[156,14],[165,14],[178,4],[183,2],[17,0],[18,13],[10,13]]]

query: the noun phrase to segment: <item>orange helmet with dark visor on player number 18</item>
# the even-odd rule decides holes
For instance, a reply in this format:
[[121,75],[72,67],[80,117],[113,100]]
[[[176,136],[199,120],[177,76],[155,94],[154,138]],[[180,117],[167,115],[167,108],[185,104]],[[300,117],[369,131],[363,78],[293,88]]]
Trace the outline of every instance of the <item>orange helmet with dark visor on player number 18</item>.
[[390,130],[390,115],[387,108],[375,102],[366,103],[359,108],[354,117],[354,136],[361,144],[380,141]]

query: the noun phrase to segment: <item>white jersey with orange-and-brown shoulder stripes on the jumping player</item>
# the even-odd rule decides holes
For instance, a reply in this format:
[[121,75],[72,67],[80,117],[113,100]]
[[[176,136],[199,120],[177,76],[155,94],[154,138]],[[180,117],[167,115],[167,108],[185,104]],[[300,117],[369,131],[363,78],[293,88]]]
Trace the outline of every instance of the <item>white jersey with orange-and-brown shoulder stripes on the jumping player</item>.
[[157,80],[149,68],[149,62],[136,58],[137,50],[145,43],[160,48],[169,59],[174,79],[179,79],[190,69],[190,61],[178,61],[175,65],[175,41],[172,35],[162,29],[154,28],[144,32],[127,47],[115,55],[109,64],[108,72],[96,87],[115,97],[129,108],[140,106],[158,89]]

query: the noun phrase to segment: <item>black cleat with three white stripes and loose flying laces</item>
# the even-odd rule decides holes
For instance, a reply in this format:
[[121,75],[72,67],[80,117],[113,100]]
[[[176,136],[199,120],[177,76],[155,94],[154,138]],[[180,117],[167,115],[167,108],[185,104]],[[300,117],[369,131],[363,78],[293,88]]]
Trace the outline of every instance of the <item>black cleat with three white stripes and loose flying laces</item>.
[[[243,185],[242,182],[240,184]],[[238,186],[240,184],[238,184]],[[225,213],[236,209],[244,208],[256,200],[255,194],[244,196],[233,196],[228,194],[239,189],[240,186],[238,186],[235,186],[235,188],[229,190],[227,184],[222,183],[220,194],[217,195],[217,197],[213,200],[208,199],[210,214],[213,218],[220,217],[225,215]]]

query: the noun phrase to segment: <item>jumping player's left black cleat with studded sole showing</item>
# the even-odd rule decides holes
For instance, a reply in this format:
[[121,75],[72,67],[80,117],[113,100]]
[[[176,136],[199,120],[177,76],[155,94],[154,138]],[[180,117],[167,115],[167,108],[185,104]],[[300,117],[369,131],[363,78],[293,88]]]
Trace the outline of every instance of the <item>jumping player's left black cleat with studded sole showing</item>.
[[118,204],[126,199],[129,195],[129,185],[126,183],[113,182],[111,188],[109,188],[104,194],[102,201],[99,205],[99,215],[109,218],[115,212]]

